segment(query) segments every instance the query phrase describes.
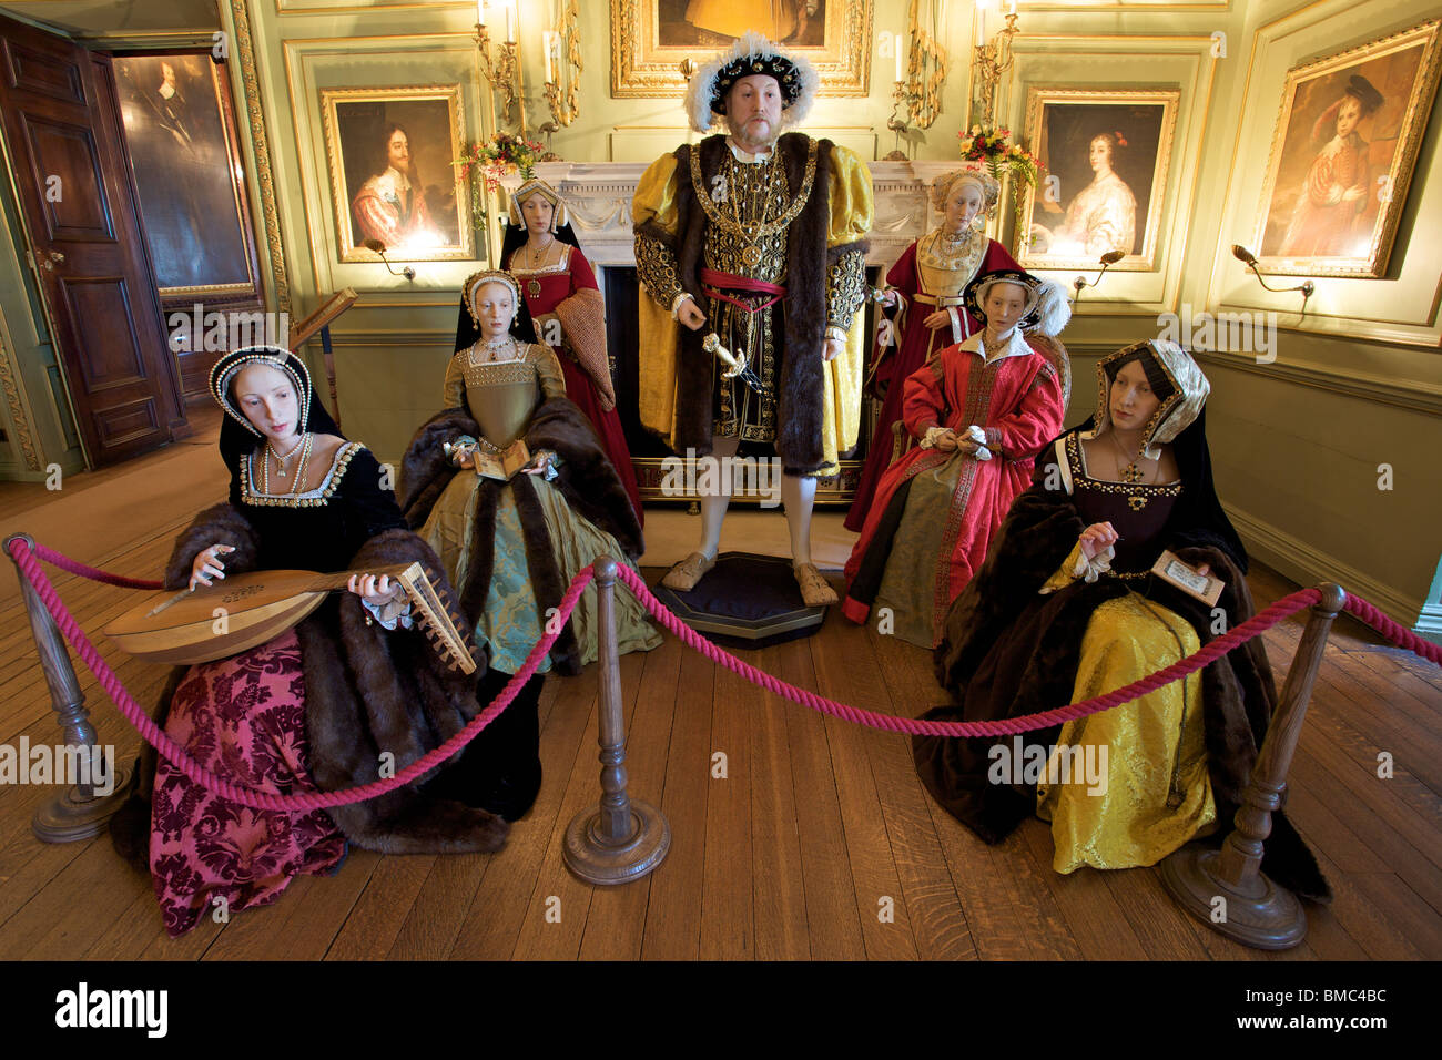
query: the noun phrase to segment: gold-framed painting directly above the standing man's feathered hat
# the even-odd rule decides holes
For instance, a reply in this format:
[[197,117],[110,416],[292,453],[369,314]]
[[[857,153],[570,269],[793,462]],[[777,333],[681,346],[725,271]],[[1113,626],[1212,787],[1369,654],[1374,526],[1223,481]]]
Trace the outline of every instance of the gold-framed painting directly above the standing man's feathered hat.
[[[867,95],[874,0],[782,0],[777,40],[805,55],[820,75],[820,95]],[[679,98],[685,59],[704,61],[730,46],[740,30],[767,32],[748,14],[750,0],[611,0],[611,95]],[[806,12],[810,10],[810,14]],[[692,22],[686,20],[686,16]],[[707,29],[707,20],[714,29]],[[773,30],[774,32],[774,30]],[[770,36],[770,33],[767,33]]]

